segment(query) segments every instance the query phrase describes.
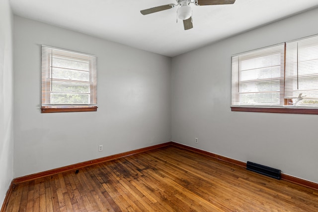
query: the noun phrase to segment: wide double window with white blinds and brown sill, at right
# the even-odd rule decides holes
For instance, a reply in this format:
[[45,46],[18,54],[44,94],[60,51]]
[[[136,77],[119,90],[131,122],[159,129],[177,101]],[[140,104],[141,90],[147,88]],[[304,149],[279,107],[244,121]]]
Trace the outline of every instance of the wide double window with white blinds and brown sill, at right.
[[232,56],[231,107],[318,114],[318,36]]

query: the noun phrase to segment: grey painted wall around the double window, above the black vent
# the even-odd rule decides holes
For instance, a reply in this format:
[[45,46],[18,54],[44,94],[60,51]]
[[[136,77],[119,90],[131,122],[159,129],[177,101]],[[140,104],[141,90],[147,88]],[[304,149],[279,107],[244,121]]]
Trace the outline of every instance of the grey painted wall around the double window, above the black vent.
[[317,115],[230,108],[231,55],[318,34],[317,23],[314,9],[173,58],[172,141],[318,183]]

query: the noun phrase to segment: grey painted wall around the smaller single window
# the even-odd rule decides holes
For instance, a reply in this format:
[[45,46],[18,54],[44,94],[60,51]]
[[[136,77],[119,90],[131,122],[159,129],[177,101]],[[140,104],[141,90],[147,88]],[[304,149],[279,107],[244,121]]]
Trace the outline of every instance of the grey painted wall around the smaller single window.
[[[97,112],[41,114],[41,44],[98,57]],[[14,16],[14,117],[14,177],[170,141],[171,59]]]

